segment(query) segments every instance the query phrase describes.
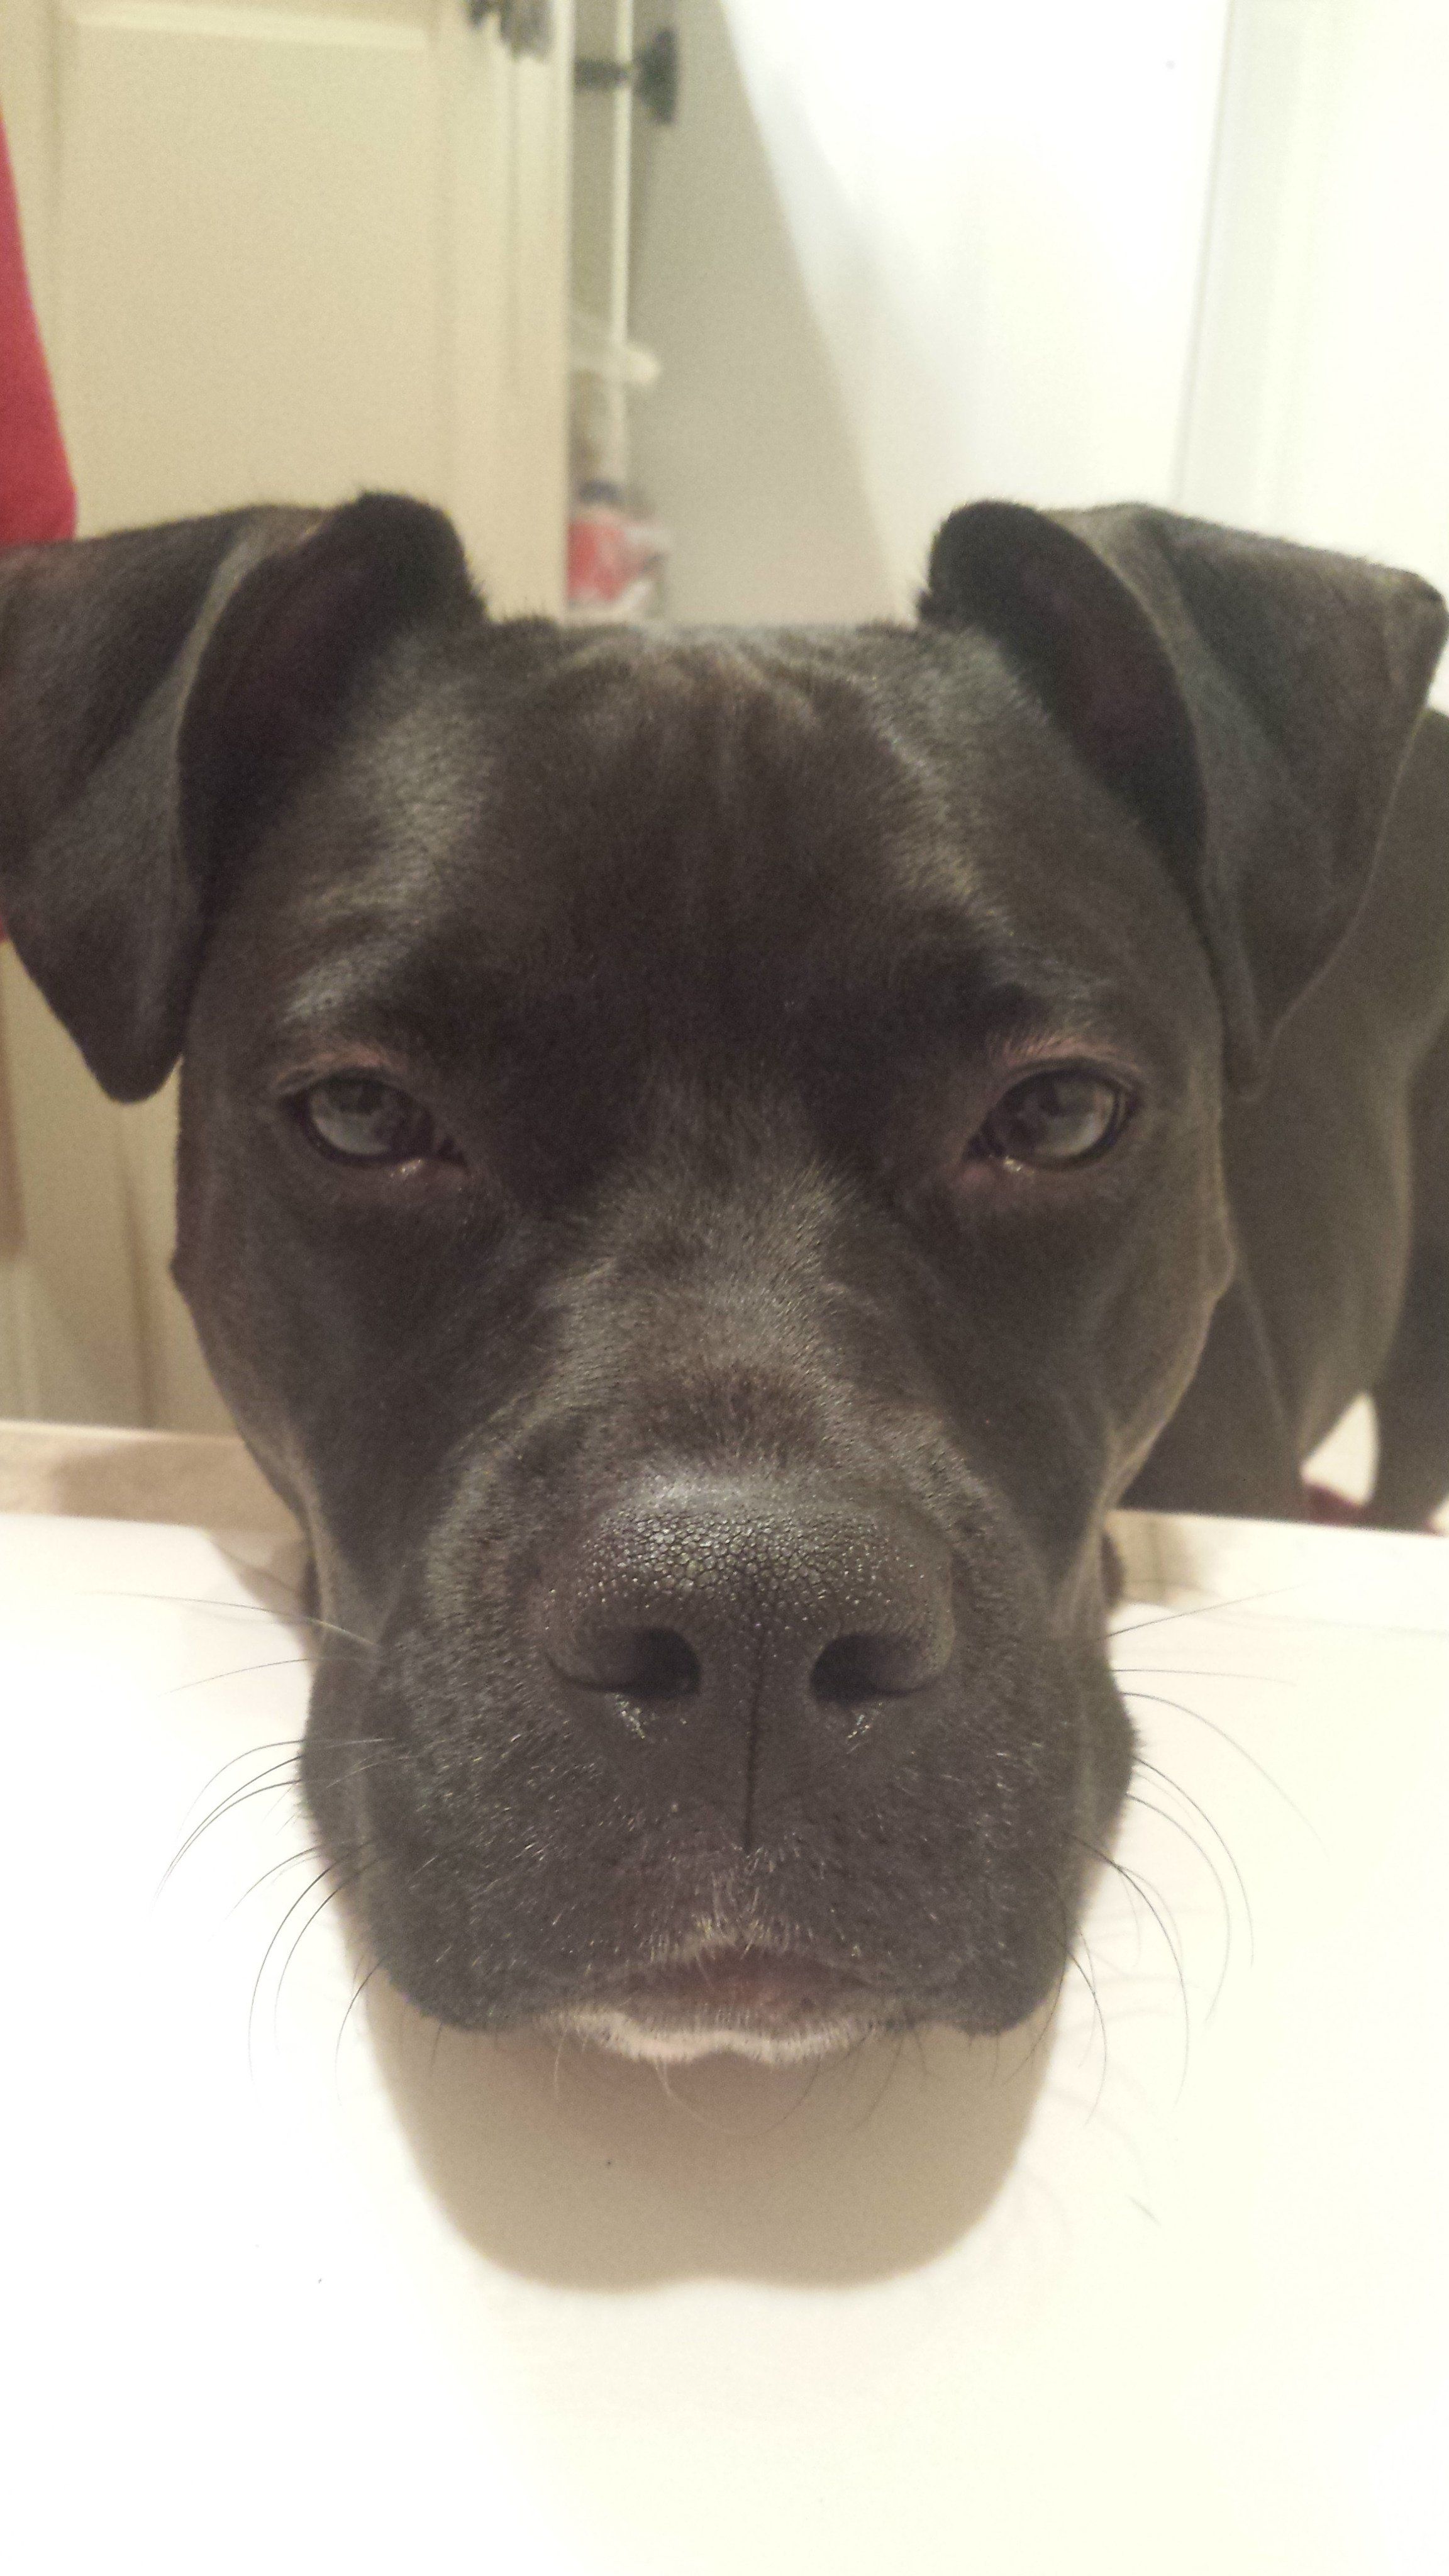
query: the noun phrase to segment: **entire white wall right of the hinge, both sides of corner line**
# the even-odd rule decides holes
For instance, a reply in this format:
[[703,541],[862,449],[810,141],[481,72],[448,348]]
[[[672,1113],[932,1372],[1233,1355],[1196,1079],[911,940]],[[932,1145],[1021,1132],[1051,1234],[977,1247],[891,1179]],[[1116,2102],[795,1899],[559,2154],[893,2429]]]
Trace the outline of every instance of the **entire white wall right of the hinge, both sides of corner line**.
[[681,0],[634,327],[673,613],[910,598],[959,500],[1449,585],[1449,0]]

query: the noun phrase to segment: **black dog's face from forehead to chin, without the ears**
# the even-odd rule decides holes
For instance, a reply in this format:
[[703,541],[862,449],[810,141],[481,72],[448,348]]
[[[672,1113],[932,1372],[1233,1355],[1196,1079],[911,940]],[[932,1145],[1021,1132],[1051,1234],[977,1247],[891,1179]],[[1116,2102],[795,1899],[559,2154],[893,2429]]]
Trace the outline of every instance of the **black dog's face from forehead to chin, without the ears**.
[[180,1280],[376,1638],[327,1847],[449,2020],[1008,2025],[1124,1785],[1101,1512],[1225,1280],[1207,966],[980,641],[503,654],[361,711],[186,1056]]

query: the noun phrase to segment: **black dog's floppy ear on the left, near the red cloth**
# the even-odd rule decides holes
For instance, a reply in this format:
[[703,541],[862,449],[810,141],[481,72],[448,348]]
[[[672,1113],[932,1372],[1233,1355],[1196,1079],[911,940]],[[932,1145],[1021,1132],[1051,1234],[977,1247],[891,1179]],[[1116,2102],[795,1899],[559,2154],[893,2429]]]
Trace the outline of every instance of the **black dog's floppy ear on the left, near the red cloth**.
[[361,667],[480,618],[438,510],[232,510],[0,556],[0,920],[113,1100],[180,1054],[224,863]]

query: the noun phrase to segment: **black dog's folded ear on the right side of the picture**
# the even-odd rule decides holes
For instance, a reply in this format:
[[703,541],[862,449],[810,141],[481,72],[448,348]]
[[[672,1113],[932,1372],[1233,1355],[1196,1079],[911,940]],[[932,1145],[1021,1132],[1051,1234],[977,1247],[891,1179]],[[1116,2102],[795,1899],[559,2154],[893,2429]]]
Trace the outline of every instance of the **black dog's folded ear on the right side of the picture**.
[[957,510],[920,616],[990,634],[1163,850],[1232,1079],[1369,884],[1449,613],[1413,572],[1171,510]]

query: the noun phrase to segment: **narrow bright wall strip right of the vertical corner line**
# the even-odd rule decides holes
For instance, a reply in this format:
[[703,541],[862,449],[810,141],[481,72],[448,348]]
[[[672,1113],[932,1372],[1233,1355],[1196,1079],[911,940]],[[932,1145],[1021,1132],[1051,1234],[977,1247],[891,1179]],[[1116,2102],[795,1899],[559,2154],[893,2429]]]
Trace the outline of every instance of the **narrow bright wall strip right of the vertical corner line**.
[[1446,170],[1446,0],[1238,0],[1189,507],[1449,590]]

